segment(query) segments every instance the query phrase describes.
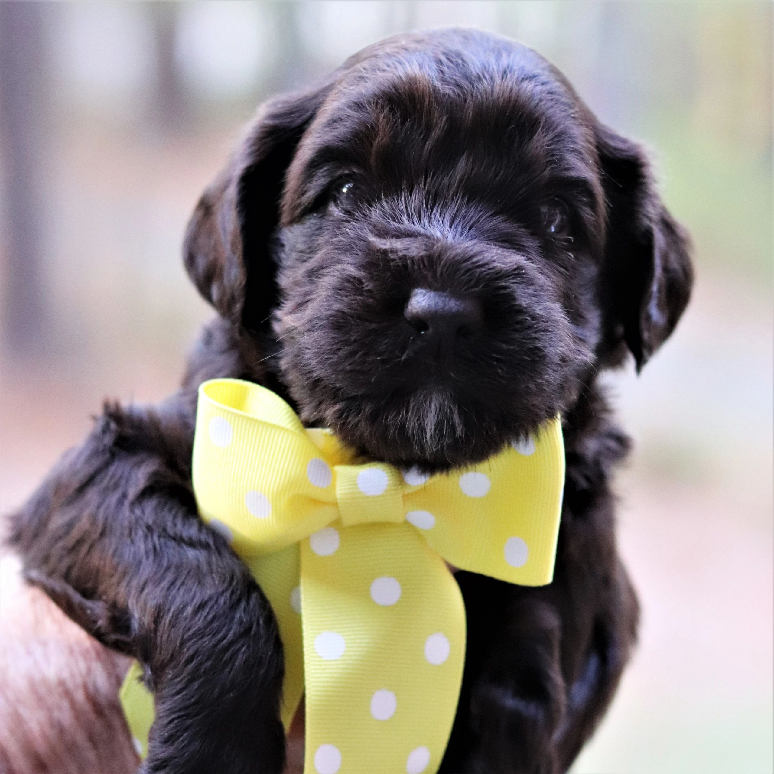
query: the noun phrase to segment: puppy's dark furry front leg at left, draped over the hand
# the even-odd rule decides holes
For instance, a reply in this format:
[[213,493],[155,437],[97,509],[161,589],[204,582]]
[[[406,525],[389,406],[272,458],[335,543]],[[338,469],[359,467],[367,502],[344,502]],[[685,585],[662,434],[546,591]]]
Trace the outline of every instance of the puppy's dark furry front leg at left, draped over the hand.
[[106,409],[12,519],[26,574],[146,666],[144,772],[283,769],[282,647],[269,604],[190,488],[194,402]]

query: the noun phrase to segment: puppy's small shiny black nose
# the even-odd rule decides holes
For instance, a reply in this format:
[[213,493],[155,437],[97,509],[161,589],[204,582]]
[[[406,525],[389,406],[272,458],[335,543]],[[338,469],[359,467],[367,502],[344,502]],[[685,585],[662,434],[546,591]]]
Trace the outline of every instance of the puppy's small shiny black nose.
[[412,291],[404,315],[418,334],[447,344],[470,336],[484,324],[478,300],[424,288]]

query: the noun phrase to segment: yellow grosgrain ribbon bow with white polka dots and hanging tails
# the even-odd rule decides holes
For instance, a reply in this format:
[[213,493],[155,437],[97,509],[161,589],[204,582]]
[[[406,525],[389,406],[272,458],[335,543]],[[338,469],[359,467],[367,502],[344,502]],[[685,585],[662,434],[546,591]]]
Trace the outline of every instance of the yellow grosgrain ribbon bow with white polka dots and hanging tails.
[[[307,430],[267,389],[199,389],[194,491],[272,604],[283,722],[306,691],[305,774],[435,772],[465,650],[455,567],[550,583],[564,482],[558,419],[464,471],[426,476]],[[147,752],[152,697],[135,666],[122,703]]]

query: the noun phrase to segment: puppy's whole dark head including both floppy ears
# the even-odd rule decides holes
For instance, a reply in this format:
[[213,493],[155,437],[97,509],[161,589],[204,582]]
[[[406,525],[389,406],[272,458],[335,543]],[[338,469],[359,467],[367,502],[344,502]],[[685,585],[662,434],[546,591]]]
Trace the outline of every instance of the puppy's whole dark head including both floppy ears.
[[388,39],[265,104],[187,268],[307,423],[366,454],[481,461],[671,333],[687,238],[638,146],[532,50]]

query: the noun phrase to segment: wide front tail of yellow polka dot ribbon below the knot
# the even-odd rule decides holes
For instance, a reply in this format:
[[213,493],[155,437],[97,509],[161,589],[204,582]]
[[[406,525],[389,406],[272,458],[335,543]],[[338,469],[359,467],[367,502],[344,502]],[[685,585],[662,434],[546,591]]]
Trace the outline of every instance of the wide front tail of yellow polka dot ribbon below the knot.
[[333,553],[301,543],[304,772],[433,774],[462,681],[457,582],[406,523],[334,529]]

